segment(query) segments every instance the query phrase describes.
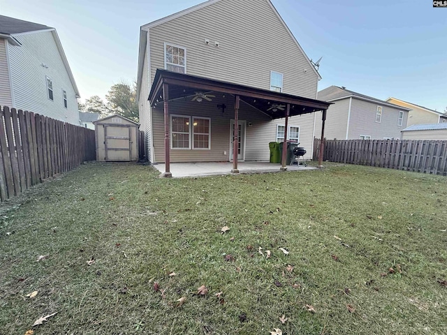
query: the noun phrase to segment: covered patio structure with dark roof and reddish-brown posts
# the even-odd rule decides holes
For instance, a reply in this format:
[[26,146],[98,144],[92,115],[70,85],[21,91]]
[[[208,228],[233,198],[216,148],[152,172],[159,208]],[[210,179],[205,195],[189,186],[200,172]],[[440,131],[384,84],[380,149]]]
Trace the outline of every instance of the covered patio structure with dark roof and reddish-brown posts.
[[[151,107],[156,107],[157,103],[163,104],[163,123],[164,123],[164,164],[159,164],[157,168],[161,170],[163,165],[162,177],[173,177],[173,173],[182,174],[181,170],[173,171],[174,164],[170,161],[171,147],[170,147],[170,103],[174,101],[178,103],[179,101],[186,101],[187,98],[194,96],[206,98],[207,94],[223,94],[233,97],[234,101],[234,127],[233,135],[230,138],[233,140],[233,144],[230,146],[232,151],[238,152],[238,139],[239,131],[237,128],[240,114],[240,105],[244,103],[251,106],[256,110],[256,112],[267,116],[269,119],[283,119],[285,120],[284,127],[284,142],[288,139],[288,119],[289,117],[310,114],[317,111],[323,111],[323,128],[322,128],[322,139],[324,138],[324,126],[326,110],[330,103],[324,101],[318,101],[311,98],[304,98],[300,96],[294,96],[291,94],[284,94],[277,91],[269,91],[266,89],[258,89],[255,87],[247,87],[240,84],[234,84],[231,82],[223,82],[219,80],[212,80],[205,77],[198,77],[196,75],[186,75],[184,73],[174,73],[168,70],[157,70],[152,84],[152,89],[149,93],[149,102]],[[160,106],[161,107],[161,106]],[[321,141],[323,144],[323,141]],[[321,148],[320,152],[323,152]],[[322,156],[318,158],[318,165],[321,165]],[[230,163],[219,163],[219,168],[210,168],[210,173],[212,171],[217,172],[217,174],[224,173],[240,173],[242,172],[242,167],[249,170],[256,170],[256,167],[260,170],[269,171],[286,171],[291,170],[291,167],[286,165],[287,161],[287,146],[284,145],[281,165],[268,164],[261,165],[254,164],[251,165],[249,162],[241,163],[238,161],[237,154],[234,155]],[[192,163],[189,163],[192,164]],[[185,165],[187,166],[187,165]],[[205,166],[205,165],[204,165]],[[214,165],[206,165],[212,167]],[[204,168],[206,170],[207,168]],[[217,169],[217,170],[216,170]],[[228,169],[221,171],[221,169]],[[301,169],[301,167],[299,167]],[[178,175],[176,177],[179,177]]]

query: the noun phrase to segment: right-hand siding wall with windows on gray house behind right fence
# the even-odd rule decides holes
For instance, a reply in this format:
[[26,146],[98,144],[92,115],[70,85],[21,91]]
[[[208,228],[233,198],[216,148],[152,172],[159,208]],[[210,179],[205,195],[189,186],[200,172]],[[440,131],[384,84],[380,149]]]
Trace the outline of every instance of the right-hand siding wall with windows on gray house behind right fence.
[[[335,103],[338,103],[338,101]],[[358,140],[360,135],[370,135],[372,140],[383,140],[383,137],[400,138],[400,132],[406,128],[408,112],[403,111],[402,126],[397,126],[400,110],[381,105],[383,108],[382,119],[378,123],[376,122],[378,105],[380,104],[362,101],[357,98],[352,99],[349,140]]]

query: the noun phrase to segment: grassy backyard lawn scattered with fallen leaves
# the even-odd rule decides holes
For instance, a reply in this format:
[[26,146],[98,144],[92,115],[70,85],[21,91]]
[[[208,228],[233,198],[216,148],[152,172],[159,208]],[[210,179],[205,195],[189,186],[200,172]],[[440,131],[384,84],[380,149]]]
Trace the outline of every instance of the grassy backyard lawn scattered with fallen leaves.
[[356,166],[82,165],[0,205],[0,334],[447,334],[446,195]]

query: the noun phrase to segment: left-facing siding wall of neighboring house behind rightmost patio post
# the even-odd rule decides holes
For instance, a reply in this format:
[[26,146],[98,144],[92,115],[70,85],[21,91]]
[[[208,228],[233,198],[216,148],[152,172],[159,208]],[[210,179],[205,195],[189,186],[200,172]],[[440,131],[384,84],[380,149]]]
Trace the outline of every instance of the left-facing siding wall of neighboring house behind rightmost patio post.
[[[328,140],[345,140],[346,128],[348,125],[350,98],[336,101],[334,105],[330,105],[326,113],[324,137]],[[315,120],[315,136],[321,137],[321,126],[323,112],[316,112]]]

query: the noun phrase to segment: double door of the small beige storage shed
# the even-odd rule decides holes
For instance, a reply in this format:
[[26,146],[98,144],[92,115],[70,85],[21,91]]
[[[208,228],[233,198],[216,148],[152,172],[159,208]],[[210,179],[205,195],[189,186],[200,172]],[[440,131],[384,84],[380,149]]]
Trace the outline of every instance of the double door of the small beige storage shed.
[[131,160],[131,128],[105,126],[105,161]]

